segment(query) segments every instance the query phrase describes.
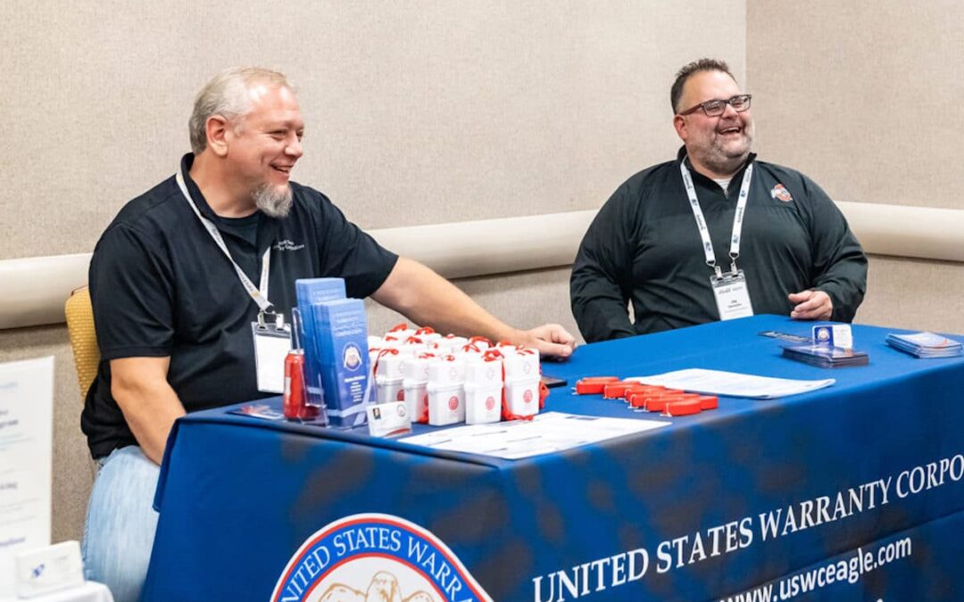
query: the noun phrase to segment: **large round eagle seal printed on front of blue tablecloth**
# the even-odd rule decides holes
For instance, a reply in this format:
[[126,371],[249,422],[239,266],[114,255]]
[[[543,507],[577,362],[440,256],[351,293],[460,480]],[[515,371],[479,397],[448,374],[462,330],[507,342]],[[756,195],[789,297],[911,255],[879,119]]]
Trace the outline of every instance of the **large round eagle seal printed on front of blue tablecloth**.
[[353,514],[288,561],[272,602],[491,602],[441,539],[390,514]]

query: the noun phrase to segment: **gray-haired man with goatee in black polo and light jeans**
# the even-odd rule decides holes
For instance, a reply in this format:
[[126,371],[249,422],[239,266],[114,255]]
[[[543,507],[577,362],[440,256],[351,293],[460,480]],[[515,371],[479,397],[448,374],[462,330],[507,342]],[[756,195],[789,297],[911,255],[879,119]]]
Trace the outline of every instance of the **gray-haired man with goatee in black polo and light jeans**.
[[[100,463],[88,509],[89,577],[136,600],[168,434],[185,412],[266,397],[252,323],[297,304],[297,278],[344,278],[420,325],[568,356],[558,325],[509,327],[425,266],[383,249],[321,193],[291,181],[305,124],[285,77],[230,69],[198,95],[193,153],[127,203],[101,236],[90,285],[101,362],[81,418]],[[269,301],[270,300],[270,301]]]

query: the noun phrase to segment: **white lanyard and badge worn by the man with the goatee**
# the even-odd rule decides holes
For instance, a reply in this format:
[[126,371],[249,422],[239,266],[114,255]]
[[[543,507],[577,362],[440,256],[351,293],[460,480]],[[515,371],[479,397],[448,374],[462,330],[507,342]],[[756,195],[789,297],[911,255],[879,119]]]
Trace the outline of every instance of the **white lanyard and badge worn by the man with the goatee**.
[[254,368],[257,375],[257,390],[262,393],[282,393],[284,391],[284,358],[291,351],[291,329],[284,324],[284,315],[276,312],[274,305],[268,301],[268,276],[271,270],[271,246],[265,249],[261,256],[260,286],[254,282],[234,262],[224,237],[218,226],[201,215],[198,205],[191,198],[191,193],[184,183],[184,175],[178,169],[174,174],[181,194],[187,200],[194,215],[207,230],[214,243],[228,257],[234,273],[241,281],[241,285],[252,300],[257,304],[257,322],[251,323],[252,340],[254,341]]

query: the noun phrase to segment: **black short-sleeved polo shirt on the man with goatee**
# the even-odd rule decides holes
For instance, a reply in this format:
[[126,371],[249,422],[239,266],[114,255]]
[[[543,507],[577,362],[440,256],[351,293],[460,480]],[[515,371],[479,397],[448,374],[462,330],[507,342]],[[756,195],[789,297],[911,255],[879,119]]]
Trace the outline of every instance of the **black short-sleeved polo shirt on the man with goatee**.
[[[341,277],[362,299],[388,277],[397,255],[383,249],[321,193],[291,183],[281,220],[224,220],[181,170],[201,215],[218,224],[234,261],[256,285],[271,247],[268,299],[289,315],[295,280]],[[254,243],[254,244],[253,244]],[[181,194],[174,176],[127,203],[94,249],[91,299],[101,361],[81,428],[94,458],[137,441],[111,396],[111,359],[171,357],[168,381],[187,411],[266,397],[257,390],[251,323],[257,305]]]

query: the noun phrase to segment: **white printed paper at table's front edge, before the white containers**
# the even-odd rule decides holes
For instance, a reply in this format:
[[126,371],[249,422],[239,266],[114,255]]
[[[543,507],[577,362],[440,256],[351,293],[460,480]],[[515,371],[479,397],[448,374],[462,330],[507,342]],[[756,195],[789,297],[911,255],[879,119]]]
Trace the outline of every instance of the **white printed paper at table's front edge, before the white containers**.
[[669,424],[662,420],[634,420],[547,412],[536,415],[531,421],[514,420],[455,427],[444,431],[416,434],[399,441],[437,450],[519,459],[598,443],[632,432],[658,429]]

